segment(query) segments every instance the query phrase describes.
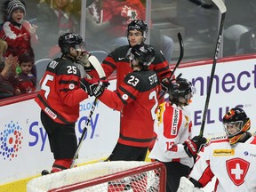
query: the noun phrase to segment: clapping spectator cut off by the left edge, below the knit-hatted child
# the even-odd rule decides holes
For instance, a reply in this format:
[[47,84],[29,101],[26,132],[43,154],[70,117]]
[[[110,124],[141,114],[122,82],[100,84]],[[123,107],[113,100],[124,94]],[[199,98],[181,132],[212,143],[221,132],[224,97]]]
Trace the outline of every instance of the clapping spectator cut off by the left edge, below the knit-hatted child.
[[3,53],[7,51],[8,44],[0,39],[0,99],[15,95],[14,87],[17,85],[16,67],[18,58],[10,54],[4,58]]

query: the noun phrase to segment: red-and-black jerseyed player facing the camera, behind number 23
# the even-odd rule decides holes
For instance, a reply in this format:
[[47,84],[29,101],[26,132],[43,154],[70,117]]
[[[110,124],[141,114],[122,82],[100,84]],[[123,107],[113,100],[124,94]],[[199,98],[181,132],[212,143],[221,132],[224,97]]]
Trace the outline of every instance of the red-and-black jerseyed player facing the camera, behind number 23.
[[[135,44],[144,44],[147,35],[148,25],[146,22],[143,20],[132,20],[127,28],[129,45],[116,48],[116,50],[110,52],[108,57],[102,62],[102,68],[104,68],[107,77],[116,71],[116,87],[119,87],[124,81],[124,76],[132,72],[129,59],[126,58],[126,53]],[[156,50],[155,52],[155,60],[152,61],[149,69],[156,71],[161,83],[166,85],[166,81],[168,82],[168,79],[171,76],[171,69],[169,68],[168,62],[165,60],[163,53]],[[89,73],[94,77],[98,77],[95,70],[92,70],[92,72]]]

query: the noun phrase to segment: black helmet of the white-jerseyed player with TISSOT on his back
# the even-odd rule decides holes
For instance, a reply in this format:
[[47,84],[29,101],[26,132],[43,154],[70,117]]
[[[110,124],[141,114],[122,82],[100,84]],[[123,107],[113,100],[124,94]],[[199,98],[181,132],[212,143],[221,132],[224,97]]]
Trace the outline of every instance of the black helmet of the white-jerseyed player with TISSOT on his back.
[[[168,87],[169,98],[173,103],[177,105],[188,105],[190,99],[196,93],[196,88],[192,85],[188,79],[180,78],[177,76],[176,79],[170,81]],[[180,102],[180,99],[186,99],[186,103]]]

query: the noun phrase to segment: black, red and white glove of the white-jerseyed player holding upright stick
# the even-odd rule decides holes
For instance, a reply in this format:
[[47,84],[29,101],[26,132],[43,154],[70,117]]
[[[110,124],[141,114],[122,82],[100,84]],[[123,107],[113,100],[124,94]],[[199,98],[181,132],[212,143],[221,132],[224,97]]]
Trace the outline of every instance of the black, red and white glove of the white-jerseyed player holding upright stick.
[[206,142],[207,140],[204,137],[195,136],[192,140],[185,140],[183,145],[188,156],[193,156],[196,159],[196,154]]

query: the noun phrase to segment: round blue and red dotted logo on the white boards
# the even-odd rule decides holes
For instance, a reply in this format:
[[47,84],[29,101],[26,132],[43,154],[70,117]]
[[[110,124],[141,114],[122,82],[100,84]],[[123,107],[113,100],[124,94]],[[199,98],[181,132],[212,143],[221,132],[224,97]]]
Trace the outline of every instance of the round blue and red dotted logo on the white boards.
[[0,156],[12,161],[13,157],[18,156],[18,151],[21,148],[23,136],[21,127],[18,123],[5,124],[3,132],[0,132]]

